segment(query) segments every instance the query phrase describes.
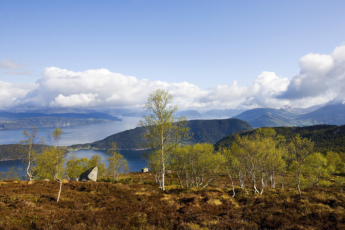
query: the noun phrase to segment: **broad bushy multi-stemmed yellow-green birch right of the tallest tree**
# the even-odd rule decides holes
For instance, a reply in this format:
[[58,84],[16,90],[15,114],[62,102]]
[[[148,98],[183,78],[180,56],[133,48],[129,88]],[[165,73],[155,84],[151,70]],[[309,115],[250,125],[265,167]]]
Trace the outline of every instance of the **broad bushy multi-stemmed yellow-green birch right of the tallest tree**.
[[224,153],[228,175],[237,176],[240,186],[245,188],[243,176],[247,172],[251,177],[250,188],[255,193],[262,194],[267,180],[286,170],[285,138],[272,128],[258,128],[251,135],[237,135],[231,148],[222,147],[220,152]]

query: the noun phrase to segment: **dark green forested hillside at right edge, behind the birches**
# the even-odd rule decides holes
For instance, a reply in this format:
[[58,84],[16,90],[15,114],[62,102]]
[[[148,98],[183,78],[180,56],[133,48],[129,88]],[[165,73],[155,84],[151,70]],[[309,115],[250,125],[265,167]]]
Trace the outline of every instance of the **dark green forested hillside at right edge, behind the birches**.
[[[325,153],[326,151],[345,152],[345,125],[312,125],[305,127],[272,127],[277,134],[286,137],[287,140],[299,133],[302,137],[311,138],[315,143],[315,151]],[[230,146],[235,136],[249,135],[255,130],[240,131],[230,134],[215,144],[219,146]]]

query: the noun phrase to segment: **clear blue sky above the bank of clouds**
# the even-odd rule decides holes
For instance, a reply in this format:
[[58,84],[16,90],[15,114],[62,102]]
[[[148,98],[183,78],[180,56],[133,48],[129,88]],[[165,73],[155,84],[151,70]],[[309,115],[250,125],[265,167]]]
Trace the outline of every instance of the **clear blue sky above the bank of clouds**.
[[34,84],[54,66],[251,87],[262,71],[292,79],[301,57],[330,54],[345,41],[345,1],[1,1],[0,8],[0,60],[31,72],[0,70],[9,83]]

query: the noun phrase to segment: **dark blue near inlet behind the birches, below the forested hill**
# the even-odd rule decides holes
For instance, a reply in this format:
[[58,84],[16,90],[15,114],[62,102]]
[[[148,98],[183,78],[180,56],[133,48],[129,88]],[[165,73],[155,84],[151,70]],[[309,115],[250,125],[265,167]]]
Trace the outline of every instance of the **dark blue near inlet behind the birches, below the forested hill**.
[[[127,160],[129,170],[131,172],[141,171],[143,167],[146,167],[145,163],[143,162],[141,155],[144,152],[143,150],[119,150],[122,155]],[[79,159],[82,157],[87,157],[90,159],[92,155],[98,154],[102,157],[102,162],[106,164],[108,167],[107,157],[109,155],[106,154],[106,150],[78,150],[74,152]],[[68,159],[69,156],[67,156]],[[0,161],[0,172],[8,171],[12,166],[15,166],[16,169],[18,167],[22,167],[22,163],[20,160],[11,160],[11,161]]]

